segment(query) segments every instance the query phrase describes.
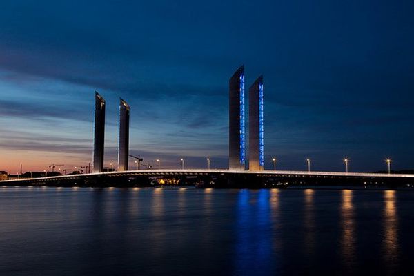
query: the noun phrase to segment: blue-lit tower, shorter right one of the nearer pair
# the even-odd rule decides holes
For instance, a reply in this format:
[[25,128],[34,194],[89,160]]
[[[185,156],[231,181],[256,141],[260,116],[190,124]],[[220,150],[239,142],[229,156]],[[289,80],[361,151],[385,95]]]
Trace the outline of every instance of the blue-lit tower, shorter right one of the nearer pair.
[[248,92],[248,169],[264,170],[263,76]]

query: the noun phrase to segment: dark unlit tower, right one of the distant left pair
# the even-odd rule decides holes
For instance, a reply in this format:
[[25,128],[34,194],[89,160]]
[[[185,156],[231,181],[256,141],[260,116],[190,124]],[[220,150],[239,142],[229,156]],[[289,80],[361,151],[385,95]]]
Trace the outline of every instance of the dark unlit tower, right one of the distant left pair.
[[119,98],[118,170],[128,170],[130,106]]

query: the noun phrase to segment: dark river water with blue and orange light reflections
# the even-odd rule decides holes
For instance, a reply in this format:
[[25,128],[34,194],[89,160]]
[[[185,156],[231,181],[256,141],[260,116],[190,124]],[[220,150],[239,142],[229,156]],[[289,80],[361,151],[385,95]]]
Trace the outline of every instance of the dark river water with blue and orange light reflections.
[[[411,247],[402,246],[413,244],[411,197],[393,190],[2,188],[0,275],[404,275],[414,268]],[[377,244],[382,250],[370,250]]]

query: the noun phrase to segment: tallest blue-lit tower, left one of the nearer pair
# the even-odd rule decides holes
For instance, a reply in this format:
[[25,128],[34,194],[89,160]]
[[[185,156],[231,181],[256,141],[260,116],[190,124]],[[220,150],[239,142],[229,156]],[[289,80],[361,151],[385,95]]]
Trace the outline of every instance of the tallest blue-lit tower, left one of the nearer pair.
[[244,118],[244,66],[241,66],[229,81],[229,164],[230,170],[244,170],[245,118]]

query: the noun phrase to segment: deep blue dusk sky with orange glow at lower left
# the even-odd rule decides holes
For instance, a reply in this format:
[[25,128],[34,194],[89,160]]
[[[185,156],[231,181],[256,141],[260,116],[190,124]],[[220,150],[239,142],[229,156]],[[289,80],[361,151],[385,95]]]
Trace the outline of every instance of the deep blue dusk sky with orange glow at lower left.
[[[228,167],[228,79],[264,75],[266,168],[414,168],[413,1],[0,2],[0,170],[92,159],[94,95],[117,164]],[[130,161],[133,165],[133,160]]]

